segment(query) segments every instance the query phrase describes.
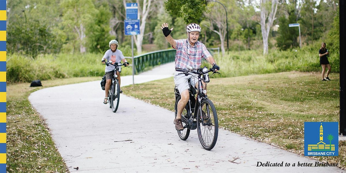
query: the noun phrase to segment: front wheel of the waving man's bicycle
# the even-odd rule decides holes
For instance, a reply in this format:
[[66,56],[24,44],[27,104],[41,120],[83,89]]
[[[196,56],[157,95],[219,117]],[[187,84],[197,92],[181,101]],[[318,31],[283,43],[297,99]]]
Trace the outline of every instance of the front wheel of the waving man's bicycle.
[[204,149],[211,150],[219,133],[216,109],[209,99],[203,99],[200,108],[197,113],[198,138]]

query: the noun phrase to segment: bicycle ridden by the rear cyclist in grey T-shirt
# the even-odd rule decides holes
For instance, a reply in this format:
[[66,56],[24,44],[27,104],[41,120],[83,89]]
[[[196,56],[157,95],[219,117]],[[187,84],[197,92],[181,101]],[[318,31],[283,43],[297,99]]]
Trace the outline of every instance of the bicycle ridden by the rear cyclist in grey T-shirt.
[[[120,85],[119,85],[119,81],[117,78],[118,77],[117,71],[121,72],[121,66],[124,65],[126,67],[126,64],[125,63],[124,64],[121,64],[121,63],[112,64],[112,61],[106,62],[104,64],[107,66],[109,66],[109,65],[115,66],[112,82],[110,84],[110,88],[108,91],[107,101],[109,102],[109,108],[112,108],[112,111],[116,112],[118,110],[119,97],[120,97]],[[119,69],[117,69],[117,67],[119,67]],[[116,104],[116,106],[114,106],[114,104]]]

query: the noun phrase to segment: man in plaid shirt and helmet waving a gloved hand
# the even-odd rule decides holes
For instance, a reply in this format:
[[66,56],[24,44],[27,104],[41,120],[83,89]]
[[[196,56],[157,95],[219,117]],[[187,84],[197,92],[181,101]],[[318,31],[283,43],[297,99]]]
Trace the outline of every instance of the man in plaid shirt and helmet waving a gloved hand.
[[[161,25],[163,34],[166,37],[167,42],[169,42],[173,48],[176,49],[175,55],[175,69],[183,70],[197,70],[202,64],[202,58],[206,59],[215,71],[220,70],[220,67],[216,65],[214,58],[210,55],[206,46],[198,41],[201,27],[197,24],[190,24],[186,27],[187,39],[175,40],[170,35],[173,28],[169,29],[168,24],[164,23]],[[177,86],[181,99],[177,104],[177,116],[174,119],[175,129],[183,130],[183,124],[181,122],[181,113],[185,108],[186,103],[189,101],[189,79],[190,84],[198,88],[198,80],[195,78],[197,74],[191,74],[185,76],[181,72],[175,71],[174,73],[174,83]],[[203,82],[205,87],[205,83]]]

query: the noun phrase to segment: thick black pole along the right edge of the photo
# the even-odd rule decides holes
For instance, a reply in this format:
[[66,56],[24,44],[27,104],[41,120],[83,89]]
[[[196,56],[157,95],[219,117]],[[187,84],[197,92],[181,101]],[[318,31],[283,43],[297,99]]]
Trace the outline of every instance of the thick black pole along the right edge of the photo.
[[[345,32],[343,32],[346,29],[345,25],[345,8],[346,8],[346,3],[345,1],[339,1],[339,11],[340,11],[340,16],[339,16],[339,27],[340,27],[340,124],[339,124],[339,134],[343,134],[343,136],[346,135],[346,71],[345,71],[345,39],[346,35]],[[336,52],[335,52],[336,54]]]

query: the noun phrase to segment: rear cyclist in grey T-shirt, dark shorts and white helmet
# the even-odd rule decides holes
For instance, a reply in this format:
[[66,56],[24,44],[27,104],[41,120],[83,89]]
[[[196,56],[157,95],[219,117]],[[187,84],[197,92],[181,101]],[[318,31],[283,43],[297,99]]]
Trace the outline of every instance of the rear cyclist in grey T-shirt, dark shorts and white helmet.
[[[118,41],[117,40],[110,40],[109,42],[109,48],[106,53],[104,53],[103,57],[102,57],[102,63],[106,63],[110,61],[112,61],[112,64],[115,63],[120,63],[120,61],[122,60],[122,62],[124,62],[126,65],[129,65],[129,63],[126,61],[124,55],[122,54],[122,52],[118,49]],[[117,67],[118,70],[119,67]],[[114,70],[115,70],[115,66],[109,65],[106,66],[106,69],[104,70],[104,73],[106,75],[106,86],[104,87],[105,91],[106,91],[106,95],[104,96],[104,100],[103,103],[107,104],[108,102],[108,91],[110,88],[110,84],[112,82],[112,78],[113,78],[113,74],[114,74]],[[120,72],[117,71],[117,75],[118,75],[118,81],[119,81],[119,86],[120,86]],[[122,90],[120,89],[120,93],[122,93]]]

